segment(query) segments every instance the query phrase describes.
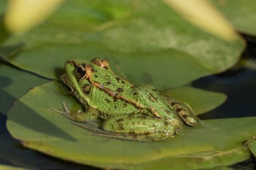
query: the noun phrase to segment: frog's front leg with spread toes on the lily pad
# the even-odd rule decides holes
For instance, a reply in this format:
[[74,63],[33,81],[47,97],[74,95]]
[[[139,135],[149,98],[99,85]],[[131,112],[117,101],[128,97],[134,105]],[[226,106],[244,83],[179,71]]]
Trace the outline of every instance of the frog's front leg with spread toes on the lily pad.
[[90,121],[96,120],[96,118],[98,118],[98,111],[96,109],[86,108],[87,109],[86,112],[82,112],[81,110],[79,110],[77,112],[70,112],[69,109],[67,108],[67,105],[65,104],[65,102],[63,102],[62,105],[63,105],[65,112],[61,112],[61,111],[58,111],[53,108],[48,108],[48,109],[58,112],[58,113],[62,114],[63,116],[69,118],[70,120],[74,120],[74,121],[78,121],[78,122],[90,122]]

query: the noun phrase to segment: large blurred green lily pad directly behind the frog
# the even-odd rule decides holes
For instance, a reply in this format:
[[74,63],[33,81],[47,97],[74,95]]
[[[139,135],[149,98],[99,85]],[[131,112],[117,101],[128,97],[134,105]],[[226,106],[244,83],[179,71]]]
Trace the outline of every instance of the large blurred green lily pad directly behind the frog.
[[161,1],[74,0],[40,27],[10,36],[0,56],[48,78],[67,59],[104,57],[131,83],[160,90],[232,67],[244,47],[193,27]]

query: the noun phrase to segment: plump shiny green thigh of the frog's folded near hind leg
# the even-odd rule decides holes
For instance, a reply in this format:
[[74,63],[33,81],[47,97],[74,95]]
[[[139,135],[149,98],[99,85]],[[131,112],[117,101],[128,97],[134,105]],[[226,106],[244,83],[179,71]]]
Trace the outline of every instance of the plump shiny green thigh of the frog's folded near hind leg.
[[122,139],[132,141],[159,141],[174,137],[176,129],[172,124],[163,122],[159,118],[125,114],[105,120],[104,130],[122,135]]

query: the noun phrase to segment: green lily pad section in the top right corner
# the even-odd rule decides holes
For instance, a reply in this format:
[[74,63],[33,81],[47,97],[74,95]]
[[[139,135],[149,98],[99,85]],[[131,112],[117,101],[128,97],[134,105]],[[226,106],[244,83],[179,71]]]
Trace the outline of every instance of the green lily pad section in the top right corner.
[[[211,1],[240,32],[256,35],[256,1]],[[236,9],[236,10],[234,10]]]

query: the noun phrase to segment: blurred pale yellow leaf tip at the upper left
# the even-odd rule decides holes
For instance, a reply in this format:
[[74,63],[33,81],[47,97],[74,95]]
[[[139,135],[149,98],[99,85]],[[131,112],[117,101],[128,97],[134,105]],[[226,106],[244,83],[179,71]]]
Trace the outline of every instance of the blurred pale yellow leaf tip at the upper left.
[[9,0],[5,24],[13,33],[22,33],[42,23],[64,0]]

